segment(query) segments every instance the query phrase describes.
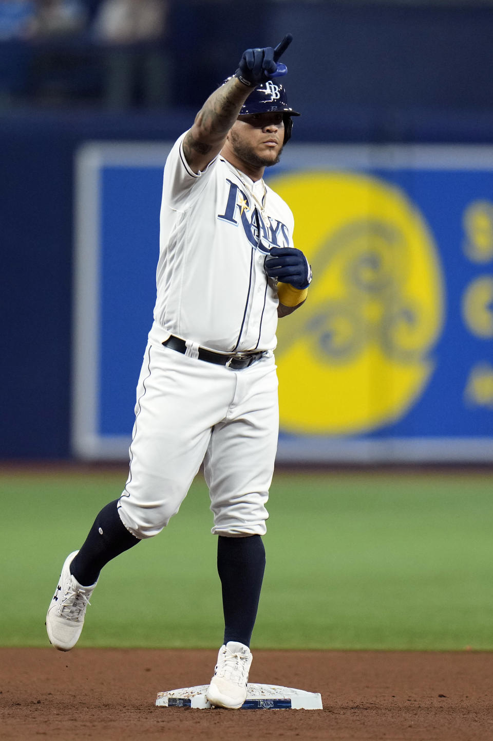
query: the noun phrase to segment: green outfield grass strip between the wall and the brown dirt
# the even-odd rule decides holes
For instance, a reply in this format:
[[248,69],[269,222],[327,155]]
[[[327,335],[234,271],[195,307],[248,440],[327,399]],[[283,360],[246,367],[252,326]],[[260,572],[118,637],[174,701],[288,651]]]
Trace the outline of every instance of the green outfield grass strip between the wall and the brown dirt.
[[[48,645],[65,556],[126,471],[0,473],[0,645]],[[258,648],[493,648],[493,473],[277,473]],[[101,574],[81,646],[217,648],[200,476],[154,539]],[[241,585],[238,584],[238,590]]]

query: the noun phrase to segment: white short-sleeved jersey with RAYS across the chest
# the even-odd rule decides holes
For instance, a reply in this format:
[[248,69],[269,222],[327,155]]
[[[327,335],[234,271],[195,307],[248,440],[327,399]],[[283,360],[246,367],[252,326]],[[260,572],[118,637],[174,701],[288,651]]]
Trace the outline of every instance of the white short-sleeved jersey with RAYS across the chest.
[[170,334],[219,352],[273,350],[271,247],[292,247],[294,219],[263,180],[252,182],[221,155],[193,173],[183,134],[164,167],[157,299],[150,337]]

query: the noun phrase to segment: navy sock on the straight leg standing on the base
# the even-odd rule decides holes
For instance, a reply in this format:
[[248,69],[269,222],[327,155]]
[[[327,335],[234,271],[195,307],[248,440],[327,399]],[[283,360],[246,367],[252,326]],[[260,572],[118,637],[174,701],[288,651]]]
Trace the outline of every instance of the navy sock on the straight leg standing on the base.
[[265,570],[260,535],[218,536],[218,574],[224,608],[224,643],[250,645]]

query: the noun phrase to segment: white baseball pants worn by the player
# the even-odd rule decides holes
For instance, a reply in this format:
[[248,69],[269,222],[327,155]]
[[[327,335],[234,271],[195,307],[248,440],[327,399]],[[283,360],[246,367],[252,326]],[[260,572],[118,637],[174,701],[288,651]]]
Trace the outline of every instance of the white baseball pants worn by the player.
[[204,473],[212,533],[264,535],[278,442],[272,354],[232,371],[150,342],[137,388],[130,473],[118,504],[135,537],[158,534]]

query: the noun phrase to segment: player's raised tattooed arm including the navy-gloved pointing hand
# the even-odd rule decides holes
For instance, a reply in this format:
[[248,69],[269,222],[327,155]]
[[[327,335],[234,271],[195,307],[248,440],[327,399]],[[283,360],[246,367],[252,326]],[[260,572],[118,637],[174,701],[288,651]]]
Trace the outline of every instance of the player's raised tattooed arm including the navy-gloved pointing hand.
[[278,59],[291,39],[287,34],[275,48],[247,49],[234,76],[207,98],[184,138],[184,155],[194,173],[204,170],[221,151],[229,129],[254,87],[286,73],[285,65],[278,64]]

